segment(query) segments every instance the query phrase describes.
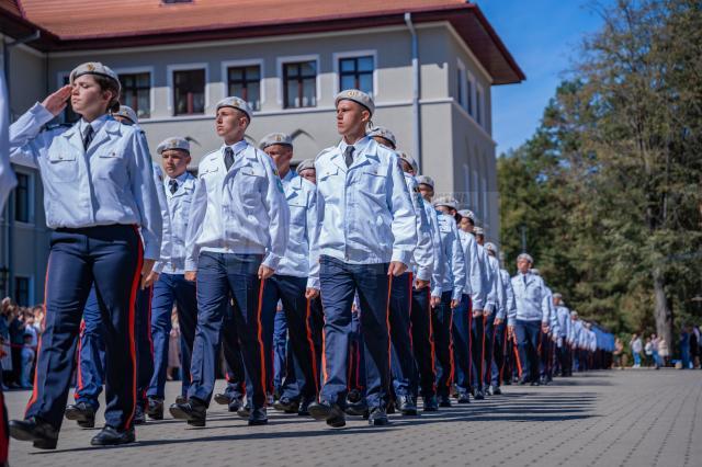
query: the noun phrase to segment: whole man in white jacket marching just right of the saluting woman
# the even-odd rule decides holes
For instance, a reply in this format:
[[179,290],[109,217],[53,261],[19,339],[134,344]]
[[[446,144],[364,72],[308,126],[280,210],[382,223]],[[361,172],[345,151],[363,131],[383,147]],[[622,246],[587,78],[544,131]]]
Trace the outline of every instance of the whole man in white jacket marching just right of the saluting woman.
[[205,424],[229,297],[251,386],[248,422],[268,423],[263,285],[285,254],[290,210],[273,161],[244,139],[250,123],[245,100],[217,103],[215,128],[224,144],[200,162],[188,220],[185,278],[197,282],[197,326],[188,401],[170,412],[193,426]]

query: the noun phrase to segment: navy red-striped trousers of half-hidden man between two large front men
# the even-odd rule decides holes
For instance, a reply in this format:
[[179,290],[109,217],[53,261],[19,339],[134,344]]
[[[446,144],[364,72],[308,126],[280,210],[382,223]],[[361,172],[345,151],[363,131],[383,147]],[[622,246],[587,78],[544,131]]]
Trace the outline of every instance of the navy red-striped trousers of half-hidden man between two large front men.
[[[319,390],[319,372],[317,367],[317,356],[312,330],[312,309],[305,292],[307,289],[307,277],[295,277],[290,275],[275,274],[265,281],[263,286],[263,329],[265,331],[264,342],[267,355],[269,357],[268,367],[273,368],[275,354],[282,353],[278,365],[286,368],[286,346],[285,335],[290,341],[290,350],[295,355],[299,372],[296,374],[297,389],[301,397],[307,400],[315,400]],[[278,301],[282,301],[283,310],[276,312]],[[279,315],[283,315],[280,316]],[[274,328],[278,321],[278,342],[275,342]],[[285,326],[286,324],[286,326]],[[287,331],[287,332],[285,332]],[[275,342],[275,352],[273,344]],[[278,361],[279,358],[275,357]],[[293,363],[291,361],[291,363]],[[291,372],[294,364],[291,365]],[[282,378],[278,381],[282,385]],[[276,387],[280,389],[280,386]]]

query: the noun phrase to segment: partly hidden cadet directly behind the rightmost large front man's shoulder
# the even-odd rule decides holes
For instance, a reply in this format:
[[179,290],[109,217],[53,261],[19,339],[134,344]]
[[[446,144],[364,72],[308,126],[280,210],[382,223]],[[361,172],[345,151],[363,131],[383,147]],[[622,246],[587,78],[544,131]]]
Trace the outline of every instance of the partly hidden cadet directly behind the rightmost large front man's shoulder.
[[417,247],[412,254],[410,271],[394,278],[390,287],[390,341],[392,361],[390,373],[393,389],[397,398],[396,405],[404,415],[417,414],[417,401],[412,387],[417,385],[415,375],[415,358],[411,340],[411,295],[412,289],[421,291],[429,286],[433,267],[433,244],[429,231],[423,201],[419,186],[414,176],[418,171],[417,162],[404,151],[397,151],[395,135],[387,128],[375,126],[367,134],[382,146],[385,146],[400,157],[400,166],[405,173],[405,182],[412,202],[415,218],[417,219]]

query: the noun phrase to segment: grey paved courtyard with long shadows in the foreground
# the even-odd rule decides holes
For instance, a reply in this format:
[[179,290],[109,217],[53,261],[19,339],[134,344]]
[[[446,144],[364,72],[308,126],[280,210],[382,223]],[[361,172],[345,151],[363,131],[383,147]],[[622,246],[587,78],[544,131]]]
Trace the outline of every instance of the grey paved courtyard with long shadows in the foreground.
[[[223,385],[218,381],[217,389]],[[12,466],[700,466],[702,372],[610,371],[548,387],[507,386],[503,396],[388,428],[350,418],[331,430],[271,409],[246,425],[213,405],[204,429],[167,419],[137,429],[137,444],[90,447],[93,430],[66,421],[58,449],[12,443]],[[169,383],[168,398],[178,391]],[[21,417],[26,391],[7,394]]]

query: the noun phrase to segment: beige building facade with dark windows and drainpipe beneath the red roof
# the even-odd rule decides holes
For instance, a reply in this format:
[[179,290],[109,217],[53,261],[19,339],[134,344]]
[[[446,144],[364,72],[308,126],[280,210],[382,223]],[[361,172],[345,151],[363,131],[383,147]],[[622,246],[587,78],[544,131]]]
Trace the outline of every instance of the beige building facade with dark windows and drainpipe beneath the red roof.
[[[294,9],[297,2],[285,3]],[[341,89],[359,88],[375,99],[373,123],[395,133],[398,147],[437,181],[438,194],[455,195],[478,215],[487,237],[498,240],[490,89],[524,77],[474,4],[385,3],[389,7],[382,11],[364,2],[347,14],[321,11],[317,19],[283,31],[273,24],[242,34],[248,26],[231,25],[216,38],[179,36],[174,31],[161,36],[141,32],[140,42],[135,36],[120,39],[116,33],[98,42],[92,36],[65,43],[60,37],[35,39],[5,48],[11,110],[16,116],[63,86],[78,64],[102,61],[120,75],[122,101],[139,114],[152,149],[166,137],[186,136],[196,166],[220,146],[214,132],[216,103],[235,94],[254,109],[247,138],[256,144],[268,133],[288,133],[298,162],[338,143],[333,98]],[[393,4],[390,13],[387,8]],[[163,10],[170,13],[169,8]],[[26,10],[31,21],[32,11]],[[37,18],[43,19],[38,13]],[[49,32],[50,27],[46,22]],[[2,31],[9,35],[8,30]],[[15,32],[13,38],[18,37]],[[73,117],[67,111],[61,119]],[[26,173],[29,189],[26,194],[16,190],[5,208],[1,264],[12,270],[5,285],[16,295],[18,286],[26,284],[30,301],[36,301],[43,298],[48,232],[38,175],[24,168],[18,172]],[[18,220],[24,205],[31,206],[31,216],[23,214],[22,219],[31,221]]]

